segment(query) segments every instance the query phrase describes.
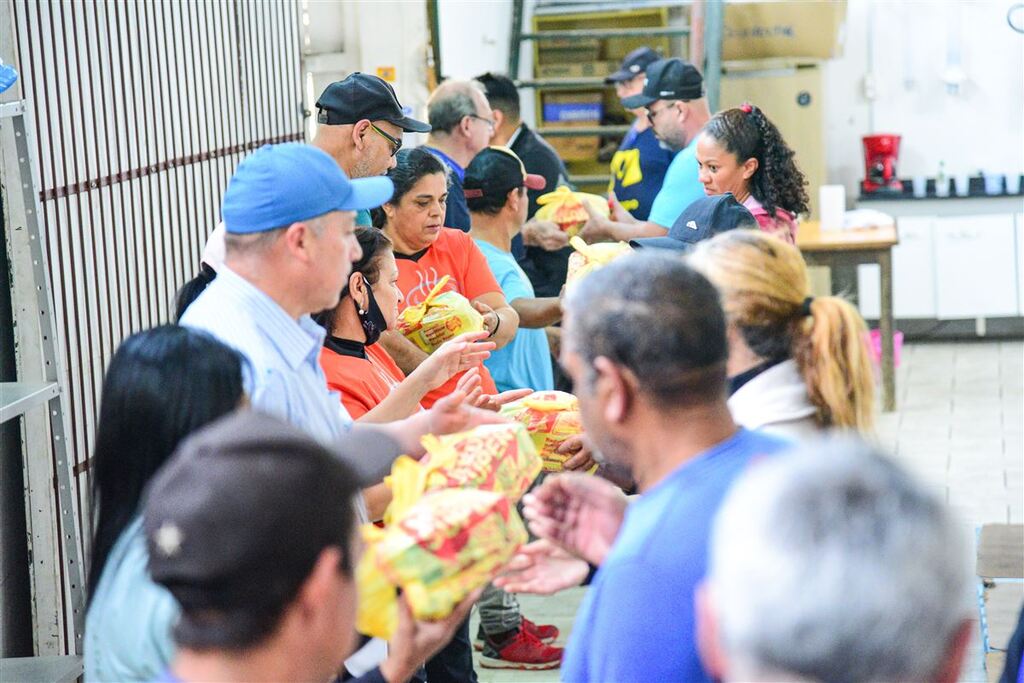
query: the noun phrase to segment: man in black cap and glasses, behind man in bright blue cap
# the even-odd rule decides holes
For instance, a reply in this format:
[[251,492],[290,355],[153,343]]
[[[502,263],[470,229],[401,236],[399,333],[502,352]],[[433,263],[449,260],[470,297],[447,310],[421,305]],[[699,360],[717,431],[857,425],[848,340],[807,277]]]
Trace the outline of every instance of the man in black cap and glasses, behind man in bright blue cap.
[[[384,175],[394,168],[402,133],[430,132],[428,124],[406,116],[387,81],[359,72],[327,86],[316,100],[316,123],[312,143],[349,178]],[[370,212],[358,211],[355,224],[369,226]]]

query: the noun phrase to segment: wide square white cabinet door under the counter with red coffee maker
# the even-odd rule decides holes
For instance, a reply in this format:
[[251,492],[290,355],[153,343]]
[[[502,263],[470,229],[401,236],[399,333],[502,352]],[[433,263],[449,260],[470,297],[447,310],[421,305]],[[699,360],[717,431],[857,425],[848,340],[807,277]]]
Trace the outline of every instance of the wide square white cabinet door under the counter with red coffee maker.
[[1014,230],[1012,214],[935,219],[936,317],[1017,314]]

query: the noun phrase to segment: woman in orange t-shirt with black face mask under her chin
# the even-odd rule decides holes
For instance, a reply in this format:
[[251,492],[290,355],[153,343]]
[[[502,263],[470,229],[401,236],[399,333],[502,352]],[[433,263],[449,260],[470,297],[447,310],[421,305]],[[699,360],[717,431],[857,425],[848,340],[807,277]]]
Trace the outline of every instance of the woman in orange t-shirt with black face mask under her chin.
[[[377,228],[356,230],[362,258],[352,264],[341,301],[332,309],[314,315],[327,330],[321,349],[321,367],[328,386],[341,393],[341,401],[353,420],[390,422],[421,410],[420,400],[456,374],[468,370],[459,383],[472,404],[486,407],[480,394],[478,368],[495,348],[481,341],[487,333],[461,335],[430,354],[409,377],[398,369],[387,351],[377,343],[385,330],[398,319],[401,292],[398,266],[390,241]],[[383,513],[387,499],[367,494],[372,518]]]

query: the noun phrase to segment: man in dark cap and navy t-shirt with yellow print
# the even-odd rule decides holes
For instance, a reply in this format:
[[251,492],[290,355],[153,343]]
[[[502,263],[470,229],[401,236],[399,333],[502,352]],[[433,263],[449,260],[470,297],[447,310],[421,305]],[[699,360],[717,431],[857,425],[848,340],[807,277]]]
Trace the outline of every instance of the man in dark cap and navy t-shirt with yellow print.
[[[638,47],[626,55],[618,71],[604,82],[615,86],[615,95],[620,99],[638,95],[643,91],[647,67],[658,58],[657,52],[651,48]],[[665,174],[676,153],[658,141],[646,110],[638,108],[631,113],[636,120],[611,158],[608,196],[613,197],[637,220],[647,220],[651,204],[662,189]]]

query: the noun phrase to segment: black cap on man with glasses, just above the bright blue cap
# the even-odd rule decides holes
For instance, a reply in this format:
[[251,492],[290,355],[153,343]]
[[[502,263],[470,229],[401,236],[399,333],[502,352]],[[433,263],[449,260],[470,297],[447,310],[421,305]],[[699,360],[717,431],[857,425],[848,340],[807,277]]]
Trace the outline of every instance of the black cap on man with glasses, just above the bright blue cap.
[[336,81],[316,100],[316,123],[344,126],[364,119],[388,121],[410,133],[430,132],[430,124],[406,116],[390,83],[370,74]]

